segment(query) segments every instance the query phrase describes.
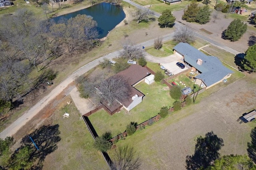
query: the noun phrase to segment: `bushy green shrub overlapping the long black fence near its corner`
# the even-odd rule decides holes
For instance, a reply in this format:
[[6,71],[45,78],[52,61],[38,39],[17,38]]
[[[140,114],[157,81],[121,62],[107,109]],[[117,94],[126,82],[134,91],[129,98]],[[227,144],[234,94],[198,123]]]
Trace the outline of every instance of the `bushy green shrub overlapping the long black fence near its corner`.
[[93,147],[99,150],[100,152],[106,152],[111,148],[112,143],[109,141],[112,138],[110,131],[105,132],[100,137],[96,137]]

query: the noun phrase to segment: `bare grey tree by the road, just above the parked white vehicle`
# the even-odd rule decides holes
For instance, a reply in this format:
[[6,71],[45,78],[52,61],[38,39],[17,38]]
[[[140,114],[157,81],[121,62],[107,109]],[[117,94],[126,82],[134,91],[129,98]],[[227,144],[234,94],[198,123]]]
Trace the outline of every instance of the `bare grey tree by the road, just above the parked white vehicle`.
[[130,41],[127,41],[123,45],[123,49],[120,52],[120,56],[126,58],[126,59],[138,59],[140,57],[144,57],[144,49],[142,47],[139,47],[137,45],[133,45]]

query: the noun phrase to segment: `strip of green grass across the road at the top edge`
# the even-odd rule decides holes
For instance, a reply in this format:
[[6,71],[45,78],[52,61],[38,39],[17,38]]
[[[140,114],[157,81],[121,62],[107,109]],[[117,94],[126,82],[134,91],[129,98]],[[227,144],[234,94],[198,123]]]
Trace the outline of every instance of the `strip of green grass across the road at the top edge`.
[[164,10],[172,10],[172,11],[179,11],[179,10],[183,10],[185,9],[188,4],[190,2],[189,1],[183,1],[180,2],[178,4],[173,4],[173,5],[168,5],[168,4],[158,4],[158,5],[153,5],[151,6],[151,10],[162,13]]

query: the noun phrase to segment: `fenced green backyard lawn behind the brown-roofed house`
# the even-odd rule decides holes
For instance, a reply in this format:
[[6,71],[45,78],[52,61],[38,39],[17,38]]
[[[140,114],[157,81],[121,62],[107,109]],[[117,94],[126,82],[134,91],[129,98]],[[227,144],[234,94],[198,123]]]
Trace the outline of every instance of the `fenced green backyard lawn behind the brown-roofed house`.
[[110,130],[112,135],[115,136],[120,132],[124,132],[126,125],[131,121],[140,124],[156,116],[161,107],[172,106],[174,102],[169,95],[169,88],[165,84],[154,82],[148,85],[142,82],[136,85],[136,89],[145,96],[142,103],[134,107],[130,112],[122,109],[120,113],[110,116],[101,109],[88,117],[98,135]]

